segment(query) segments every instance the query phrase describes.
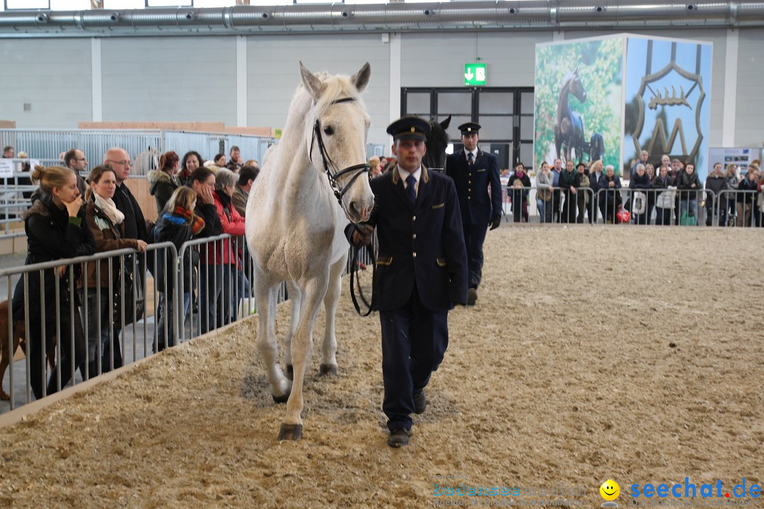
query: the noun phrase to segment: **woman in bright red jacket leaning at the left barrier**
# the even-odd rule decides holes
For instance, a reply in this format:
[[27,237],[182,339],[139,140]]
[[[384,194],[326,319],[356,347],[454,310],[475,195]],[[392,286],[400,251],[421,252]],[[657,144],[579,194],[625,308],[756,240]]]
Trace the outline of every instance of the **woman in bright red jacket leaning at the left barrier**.
[[[220,222],[223,225],[223,233],[231,237],[242,237],[244,235],[244,217],[241,217],[236,209],[231,205],[231,196],[236,189],[238,177],[229,169],[221,168],[215,173],[215,208],[218,211]],[[241,246],[241,240],[225,239],[215,243],[214,249],[207,250],[206,263],[212,272],[219,275],[215,282],[215,288],[210,288],[207,292],[207,313],[209,329],[212,324],[215,327],[231,322],[236,308],[232,305],[234,295],[234,285],[236,281],[236,270],[238,253],[237,249]],[[208,284],[212,283],[208,279]],[[217,318],[215,320],[215,318]],[[202,318],[202,328],[204,327]],[[209,330],[208,329],[208,330]]]

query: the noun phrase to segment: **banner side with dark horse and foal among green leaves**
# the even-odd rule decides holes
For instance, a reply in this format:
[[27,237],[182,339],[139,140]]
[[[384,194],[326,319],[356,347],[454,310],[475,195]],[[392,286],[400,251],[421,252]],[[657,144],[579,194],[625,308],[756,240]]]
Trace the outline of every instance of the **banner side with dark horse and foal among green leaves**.
[[620,168],[623,36],[536,45],[534,167],[559,157]]

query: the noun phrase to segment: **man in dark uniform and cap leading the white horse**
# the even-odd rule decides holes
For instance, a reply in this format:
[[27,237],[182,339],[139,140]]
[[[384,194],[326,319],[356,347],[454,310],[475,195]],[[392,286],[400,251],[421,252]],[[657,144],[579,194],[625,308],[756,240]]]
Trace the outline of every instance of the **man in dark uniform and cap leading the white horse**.
[[[371,181],[379,250],[374,304],[382,326],[382,376],[390,447],[409,443],[424,388],[448,346],[448,310],[467,301],[467,253],[452,179],[422,166],[429,124],[407,115],[390,124],[398,164]],[[348,232],[350,231],[348,227]],[[371,235],[352,235],[355,244]]]

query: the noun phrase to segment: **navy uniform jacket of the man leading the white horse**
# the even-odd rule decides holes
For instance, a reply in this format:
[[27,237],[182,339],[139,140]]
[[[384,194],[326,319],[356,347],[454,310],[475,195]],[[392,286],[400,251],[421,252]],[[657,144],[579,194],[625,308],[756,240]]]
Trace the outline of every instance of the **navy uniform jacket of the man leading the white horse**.
[[379,249],[374,300],[380,311],[402,308],[414,282],[426,308],[444,311],[467,301],[467,251],[454,182],[422,168],[411,208],[398,170],[371,181]]

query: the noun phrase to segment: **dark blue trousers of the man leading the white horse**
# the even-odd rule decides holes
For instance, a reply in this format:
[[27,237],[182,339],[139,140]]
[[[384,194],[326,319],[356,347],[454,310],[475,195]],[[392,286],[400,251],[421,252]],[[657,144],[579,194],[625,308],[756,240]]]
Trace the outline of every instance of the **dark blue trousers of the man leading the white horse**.
[[448,310],[431,311],[414,286],[403,308],[380,311],[382,378],[387,428],[411,428],[414,392],[421,391],[438,369],[448,347]]

